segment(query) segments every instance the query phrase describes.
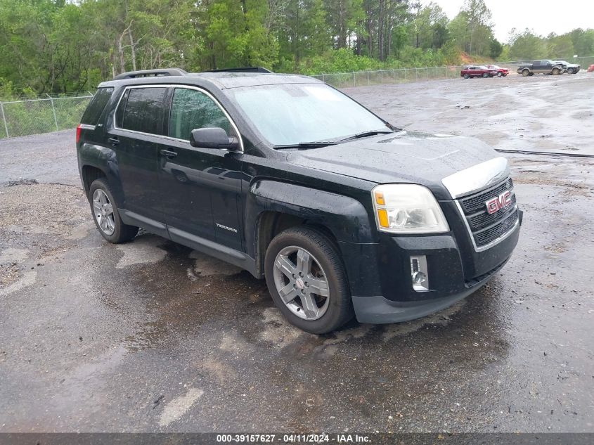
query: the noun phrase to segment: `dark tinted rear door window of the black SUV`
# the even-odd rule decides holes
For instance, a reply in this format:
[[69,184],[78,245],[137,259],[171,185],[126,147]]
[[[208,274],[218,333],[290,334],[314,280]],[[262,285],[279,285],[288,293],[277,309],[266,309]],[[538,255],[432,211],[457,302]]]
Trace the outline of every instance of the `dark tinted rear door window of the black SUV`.
[[143,133],[161,134],[165,88],[133,88],[124,106],[122,128]]

